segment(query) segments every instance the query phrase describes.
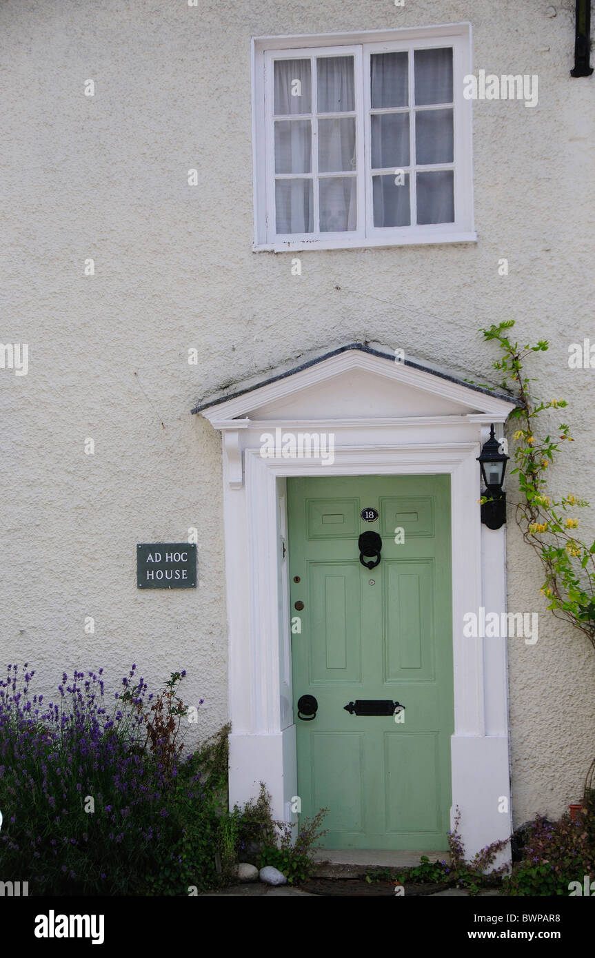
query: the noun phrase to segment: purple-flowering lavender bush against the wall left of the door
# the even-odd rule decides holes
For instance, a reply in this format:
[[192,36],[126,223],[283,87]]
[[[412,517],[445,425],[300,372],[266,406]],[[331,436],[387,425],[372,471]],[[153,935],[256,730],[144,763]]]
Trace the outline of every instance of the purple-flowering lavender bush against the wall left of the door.
[[189,885],[217,883],[221,796],[205,782],[199,752],[168,750],[167,730],[147,747],[155,696],[135,671],[108,709],[103,669],[70,680],[63,673],[57,700],[46,705],[30,695],[28,664],[21,673],[8,666],[0,680],[0,879],[28,880],[30,895],[186,895]]

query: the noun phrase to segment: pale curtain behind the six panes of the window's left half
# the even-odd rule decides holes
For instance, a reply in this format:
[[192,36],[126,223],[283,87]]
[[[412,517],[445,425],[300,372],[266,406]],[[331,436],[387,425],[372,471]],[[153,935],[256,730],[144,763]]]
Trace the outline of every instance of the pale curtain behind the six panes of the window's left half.
[[[317,114],[355,110],[354,57],[317,57],[316,84]],[[292,89],[301,90],[301,96],[292,95]],[[275,115],[294,116],[310,110],[309,60],[275,60]],[[275,183],[277,232],[313,232],[314,189],[318,190],[320,231],[355,230],[355,176],[323,175],[316,183],[311,178],[299,178],[300,173],[312,171],[311,124],[311,120],[297,116],[295,120],[275,121],[275,172],[298,174]],[[319,117],[317,133],[319,173],[355,172],[355,117]]]

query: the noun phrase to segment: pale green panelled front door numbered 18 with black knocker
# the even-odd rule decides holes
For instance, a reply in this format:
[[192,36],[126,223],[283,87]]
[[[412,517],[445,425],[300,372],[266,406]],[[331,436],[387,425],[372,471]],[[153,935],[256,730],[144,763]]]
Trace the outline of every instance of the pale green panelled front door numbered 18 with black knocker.
[[[302,815],[329,810],[326,848],[446,850],[449,476],[293,478],[287,508]],[[365,521],[364,510],[378,518]],[[369,531],[382,540],[373,569],[359,559],[358,537]],[[305,695],[318,703],[311,720],[298,718]],[[352,708],[374,711],[379,700],[404,711],[345,709],[363,701]]]

